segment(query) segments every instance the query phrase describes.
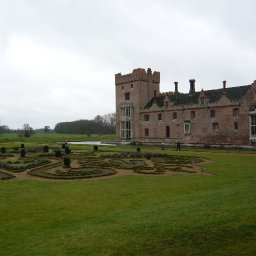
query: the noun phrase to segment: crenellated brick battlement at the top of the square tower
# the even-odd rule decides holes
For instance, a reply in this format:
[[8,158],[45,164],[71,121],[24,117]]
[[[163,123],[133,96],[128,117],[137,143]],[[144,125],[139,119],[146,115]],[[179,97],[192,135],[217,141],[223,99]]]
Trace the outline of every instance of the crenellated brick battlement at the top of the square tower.
[[149,82],[150,80],[152,80],[153,83],[160,83],[160,72],[154,71],[152,74],[150,68],[148,68],[147,71],[143,68],[136,68],[130,74],[122,75],[121,73],[118,73],[115,75],[116,85],[131,83],[134,81]]

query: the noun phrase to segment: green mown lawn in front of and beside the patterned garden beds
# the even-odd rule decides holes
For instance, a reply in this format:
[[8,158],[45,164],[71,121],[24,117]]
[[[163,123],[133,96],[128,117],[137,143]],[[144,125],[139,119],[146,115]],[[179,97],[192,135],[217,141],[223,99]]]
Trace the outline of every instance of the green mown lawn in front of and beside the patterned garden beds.
[[255,255],[256,154],[165,152],[211,175],[0,181],[0,255]]

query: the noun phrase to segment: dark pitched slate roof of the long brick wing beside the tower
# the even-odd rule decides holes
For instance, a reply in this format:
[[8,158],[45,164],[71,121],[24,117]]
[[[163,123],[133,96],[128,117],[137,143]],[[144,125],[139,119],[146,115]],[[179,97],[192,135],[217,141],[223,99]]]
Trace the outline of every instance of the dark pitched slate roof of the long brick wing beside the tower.
[[[229,87],[226,88],[226,96],[230,101],[238,101],[245,96],[247,91],[250,89],[251,85],[237,86],[237,87]],[[159,107],[164,106],[164,99],[167,96],[171,102],[173,102],[174,106],[178,105],[191,105],[198,104],[199,97],[201,92],[195,92],[193,94],[189,93],[165,93],[160,94],[158,97],[152,98],[147,105],[146,109],[150,108],[154,102]],[[216,90],[208,90],[204,91],[205,97],[209,100],[209,103],[214,103],[220,100],[223,95],[223,89]]]

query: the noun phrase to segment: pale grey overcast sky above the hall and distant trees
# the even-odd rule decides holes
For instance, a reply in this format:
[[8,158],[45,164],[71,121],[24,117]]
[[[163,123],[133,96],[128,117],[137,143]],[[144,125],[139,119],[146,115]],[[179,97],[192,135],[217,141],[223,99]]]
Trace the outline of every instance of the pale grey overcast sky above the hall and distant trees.
[[41,128],[115,111],[114,75],[160,91],[256,80],[255,0],[0,0],[0,122]]

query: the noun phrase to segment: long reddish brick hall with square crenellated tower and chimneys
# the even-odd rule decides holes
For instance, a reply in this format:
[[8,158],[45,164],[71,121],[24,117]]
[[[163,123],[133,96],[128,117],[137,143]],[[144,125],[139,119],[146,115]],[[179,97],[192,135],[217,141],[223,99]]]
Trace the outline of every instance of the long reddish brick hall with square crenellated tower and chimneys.
[[256,143],[256,81],[188,93],[178,82],[160,93],[160,73],[134,69],[115,75],[116,135],[119,141],[184,144],[251,145]]

